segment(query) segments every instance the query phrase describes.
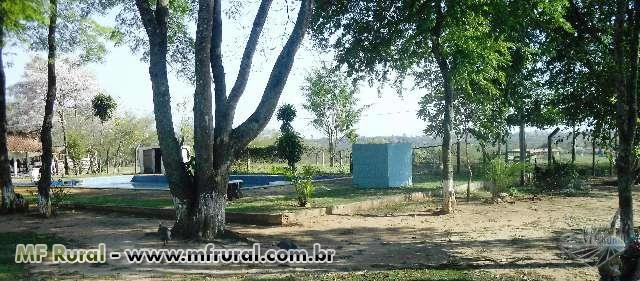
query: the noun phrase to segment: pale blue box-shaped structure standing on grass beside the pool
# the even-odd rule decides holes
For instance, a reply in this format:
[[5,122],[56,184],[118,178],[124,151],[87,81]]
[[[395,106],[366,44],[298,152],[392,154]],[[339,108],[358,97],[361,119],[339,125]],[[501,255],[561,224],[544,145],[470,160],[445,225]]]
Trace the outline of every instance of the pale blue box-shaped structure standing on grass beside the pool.
[[352,151],[355,186],[388,188],[412,185],[411,144],[354,144]]

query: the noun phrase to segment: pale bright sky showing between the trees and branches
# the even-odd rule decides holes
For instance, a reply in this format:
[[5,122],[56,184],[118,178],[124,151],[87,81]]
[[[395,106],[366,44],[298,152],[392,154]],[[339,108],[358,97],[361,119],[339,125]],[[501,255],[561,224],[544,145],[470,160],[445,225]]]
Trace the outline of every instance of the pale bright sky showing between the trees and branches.
[[[238,65],[245,41],[249,33],[249,24],[255,16],[257,8],[249,5],[248,1],[241,5],[240,12],[223,22],[223,61],[225,64],[226,80],[229,89],[235,82]],[[293,2],[297,3],[297,2]],[[288,7],[288,12],[287,8]],[[271,72],[273,62],[284,45],[288,32],[291,31],[293,20],[297,15],[296,7],[285,6],[284,1],[275,1],[267,19],[258,51],[254,57],[252,71],[246,91],[238,107],[234,124],[244,121],[257,106],[262,90]],[[224,9],[224,7],[223,7]],[[101,23],[112,24],[115,13],[109,13],[99,19]],[[109,44],[109,53],[103,63],[90,64],[88,67],[95,73],[100,86],[106,93],[118,101],[119,110],[129,111],[137,115],[150,115],[153,112],[151,82],[148,74],[148,64],[140,60],[140,54],[132,53],[128,46],[113,46]],[[44,53],[34,53],[20,46],[11,46],[4,50],[7,68],[7,86],[20,81],[24,66],[34,56],[45,56]],[[322,62],[330,62],[331,55],[312,47],[308,37],[296,54],[293,69],[287,80],[279,104],[293,104],[298,117],[293,123],[294,128],[306,138],[320,138],[322,133],[310,125],[312,115],[306,112],[302,105],[304,98],[301,87],[309,71]],[[174,123],[183,116],[192,114],[190,110],[178,112],[175,104],[187,101],[191,108],[194,88],[186,80],[169,74]],[[400,97],[390,88],[382,89],[381,94],[375,88],[361,85],[358,91],[359,106],[369,105],[357,125],[357,133],[361,136],[418,136],[422,135],[424,122],[416,117],[418,101],[425,91],[405,91]],[[267,129],[277,129],[279,124],[273,117]]]

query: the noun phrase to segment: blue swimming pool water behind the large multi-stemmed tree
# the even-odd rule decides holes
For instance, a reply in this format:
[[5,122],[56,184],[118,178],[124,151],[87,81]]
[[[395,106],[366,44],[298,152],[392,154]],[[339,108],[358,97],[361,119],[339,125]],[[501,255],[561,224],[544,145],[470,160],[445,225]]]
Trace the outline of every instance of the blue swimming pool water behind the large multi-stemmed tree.
[[[334,179],[333,176],[317,176],[314,180]],[[229,180],[242,180],[243,188],[268,186],[270,183],[286,181],[280,175],[231,175]],[[56,184],[56,183],[54,183]],[[66,180],[63,185],[86,188],[136,188],[136,189],[169,189],[164,175],[124,175]]]

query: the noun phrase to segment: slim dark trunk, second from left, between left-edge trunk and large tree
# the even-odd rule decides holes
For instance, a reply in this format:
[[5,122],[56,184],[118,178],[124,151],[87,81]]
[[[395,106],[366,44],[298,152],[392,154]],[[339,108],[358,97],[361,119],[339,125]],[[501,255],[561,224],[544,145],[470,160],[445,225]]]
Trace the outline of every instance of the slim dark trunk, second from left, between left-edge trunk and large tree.
[[42,166],[38,182],[38,209],[44,217],[51,216],[51,164],[53,161],[53,106],[56,101],[56,22],[58,19],[58,2],[49,0],[49,54],[47,58],[47,97],[44,106],[44,120],[40,141],[42,142]]

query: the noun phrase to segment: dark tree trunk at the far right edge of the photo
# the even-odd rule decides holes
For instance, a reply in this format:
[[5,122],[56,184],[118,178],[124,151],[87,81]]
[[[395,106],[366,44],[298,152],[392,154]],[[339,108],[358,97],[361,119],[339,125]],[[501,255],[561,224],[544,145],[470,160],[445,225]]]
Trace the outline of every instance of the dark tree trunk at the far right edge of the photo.
[[[625,28],[626,20],[626,28]],[[637,158],[636,122],[638,119],[638,32],[640,32],[640,1],[636,0],[629,10],[629,2],[616,2],[614,20],[614,85],[616,91],[616,124],[618,127],[618,155],[616,174],[618,177],[618,206],[620,209],[620,232],[627,245],[635,239],[633,228],[632,188],[636,179]],[[625,42],[629,40],[629,42]],[[621,256],[621,280],[632,280],[636,274],[638,257]]]

